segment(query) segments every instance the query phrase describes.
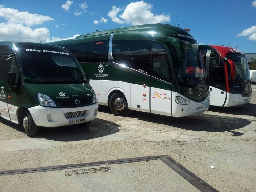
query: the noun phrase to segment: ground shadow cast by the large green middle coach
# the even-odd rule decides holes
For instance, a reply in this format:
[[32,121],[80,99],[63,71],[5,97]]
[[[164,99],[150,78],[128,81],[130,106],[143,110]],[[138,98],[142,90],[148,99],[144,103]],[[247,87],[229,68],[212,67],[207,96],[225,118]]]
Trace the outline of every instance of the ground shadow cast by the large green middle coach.
[[[105,113],[111,113],[111,111],[105,107],[100,107],[100,111]],[[177,127],[180,129],[192,130],[192,131],[207,131],[207,132],[232,132],[233,136],[240,136],[243,133],[232,131],[241,129],[251,123],[250,120],[227,117],[220,115],[210,114],[198,114],[187,117],[172,118],[168,116],[154,115],[149,113],[143,113],[139,111],[132,111],[127,117],[140,119],[157,124],[163,124],[168,126]]]

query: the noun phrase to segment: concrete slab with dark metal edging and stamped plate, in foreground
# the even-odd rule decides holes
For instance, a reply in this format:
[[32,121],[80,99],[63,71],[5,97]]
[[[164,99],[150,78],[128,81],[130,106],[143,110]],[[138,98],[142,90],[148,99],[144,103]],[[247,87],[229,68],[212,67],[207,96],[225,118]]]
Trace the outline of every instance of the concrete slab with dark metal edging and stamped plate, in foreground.
[[0,171],[0,191],[216,191],[166,155],[106,162]]

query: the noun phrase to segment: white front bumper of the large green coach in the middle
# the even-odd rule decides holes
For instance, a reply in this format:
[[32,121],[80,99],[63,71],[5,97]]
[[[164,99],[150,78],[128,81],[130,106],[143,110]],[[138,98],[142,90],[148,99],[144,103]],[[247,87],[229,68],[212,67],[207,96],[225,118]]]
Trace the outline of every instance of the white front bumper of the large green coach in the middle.
[[[204,111],[207,111],[210,106],[210,92],[208,93],[207,97],[201,102],[192,101],[191,99],[188,99],[184,95],[180,95],[179,93],[176,93],[176,92],[172,92],[172,96],[173,96],[172,97],[172,116],[173,117],[184,117],[184,116],[203,113]],[[175,101],[176,96],[180,96],[186,100],[189,100],[190,104],[188,105],[177,104]]]

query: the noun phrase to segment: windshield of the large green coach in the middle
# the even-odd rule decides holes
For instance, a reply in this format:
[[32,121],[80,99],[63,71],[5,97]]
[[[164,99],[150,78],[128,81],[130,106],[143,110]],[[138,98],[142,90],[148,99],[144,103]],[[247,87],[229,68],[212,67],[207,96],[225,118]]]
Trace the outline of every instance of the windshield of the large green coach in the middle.
[[186,84],[190,79],[207,80],[202,54],[198,51],[198,44],[187,40],[179,40],[178,42],[179,46],[177,46],[177,41],[176,45],[170,46],[178,82]]

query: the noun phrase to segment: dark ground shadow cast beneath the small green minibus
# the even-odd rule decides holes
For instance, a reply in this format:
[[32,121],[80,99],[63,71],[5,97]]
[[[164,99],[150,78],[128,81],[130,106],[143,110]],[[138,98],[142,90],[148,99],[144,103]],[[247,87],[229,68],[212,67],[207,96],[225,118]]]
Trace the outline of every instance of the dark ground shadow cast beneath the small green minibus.
[[[24,133],[21,124],[15,124],[0,118],[0,122]],[[96,118],[89,126],[76,124],[63,127],[40,127],[34,138],[45,138],[55,141],[79,141],[111,135],[119,131],[119,125],[110,121]]]

